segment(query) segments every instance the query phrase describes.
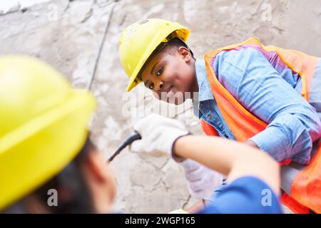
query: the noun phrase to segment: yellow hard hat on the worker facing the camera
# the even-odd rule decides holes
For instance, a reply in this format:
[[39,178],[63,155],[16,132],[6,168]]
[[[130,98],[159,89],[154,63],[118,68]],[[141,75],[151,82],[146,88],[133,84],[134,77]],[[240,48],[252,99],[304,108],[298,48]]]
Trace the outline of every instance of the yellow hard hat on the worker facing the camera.
[[172,38],[186,41],[190,31],[177,22],[163,19],[138,21],[123,31],[119,40],[119,53],[123,69],[130,78],[127,91],[141,82],[137,76],[144,63],[158,45],[168,41],[166,38],[172,33]]

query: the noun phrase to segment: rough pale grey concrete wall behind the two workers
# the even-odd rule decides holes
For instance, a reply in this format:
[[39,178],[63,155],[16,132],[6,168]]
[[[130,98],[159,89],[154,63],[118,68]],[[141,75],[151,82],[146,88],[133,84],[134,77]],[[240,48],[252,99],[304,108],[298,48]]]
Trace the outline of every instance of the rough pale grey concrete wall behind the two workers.
[[[188,44],[198,58],[213,48],[251,36],[260,37],[265,44],[321,56],[319,0],[57,0],[13,6],[6,13],[0,10],[0,54],[25,53],[41,58],[79,88],[88,85],[97,65],[92,90],[98,111],[92,137],[107,158],[139,118],[124,115],[128,78],[119,62],[118,38],[126,26],[147,18],[188,26]],[[201,133],[188,108],[190,103],[185,110],[160,104],[143,86],[130,94],[136,99],[132,102],[136,113],[143,114],[143,105],[148,112],[156,112],[160,105],[169,107],[170,113],[165,115],[184,120],[190,130]],[[139,157],[124,150],[112,166],[118,185],[116,207],[126,212],[169,212],[195,202],[181,168],[171,160]]]

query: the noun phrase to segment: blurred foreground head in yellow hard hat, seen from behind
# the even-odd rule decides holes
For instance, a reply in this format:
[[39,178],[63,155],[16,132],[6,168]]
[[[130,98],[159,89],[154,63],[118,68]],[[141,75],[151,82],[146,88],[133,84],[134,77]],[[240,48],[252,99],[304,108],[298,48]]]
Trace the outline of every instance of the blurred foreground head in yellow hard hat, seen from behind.
[[95,107],[46,63],[0,57],[0,212],[108,212],[115,182],[88,138]]

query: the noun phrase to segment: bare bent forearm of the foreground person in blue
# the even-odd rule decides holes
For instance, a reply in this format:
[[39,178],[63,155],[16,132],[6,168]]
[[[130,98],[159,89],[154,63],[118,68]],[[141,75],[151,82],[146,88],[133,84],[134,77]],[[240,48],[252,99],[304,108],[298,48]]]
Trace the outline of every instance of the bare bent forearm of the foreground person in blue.
[[255,176],[270,185],[275,192],[279,189],[279,167],[264,152],[223,138],[188,135],[179,138],[174,145],[175,155],[190,158],[228,175],[228,181]]

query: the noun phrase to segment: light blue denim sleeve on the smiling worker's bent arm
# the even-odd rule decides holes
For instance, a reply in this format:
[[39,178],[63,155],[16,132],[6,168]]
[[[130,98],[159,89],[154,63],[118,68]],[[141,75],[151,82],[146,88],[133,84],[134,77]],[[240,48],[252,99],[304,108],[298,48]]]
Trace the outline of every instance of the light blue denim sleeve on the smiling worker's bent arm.
[[291,78],[282,78],[254,48],[225,52],[215,62],[220,83],[250,113],[268,123],[250,140],[279,162],[289,158],[309,162],[312,143],[321,136],[321,122],[315,108],[290,85]]

